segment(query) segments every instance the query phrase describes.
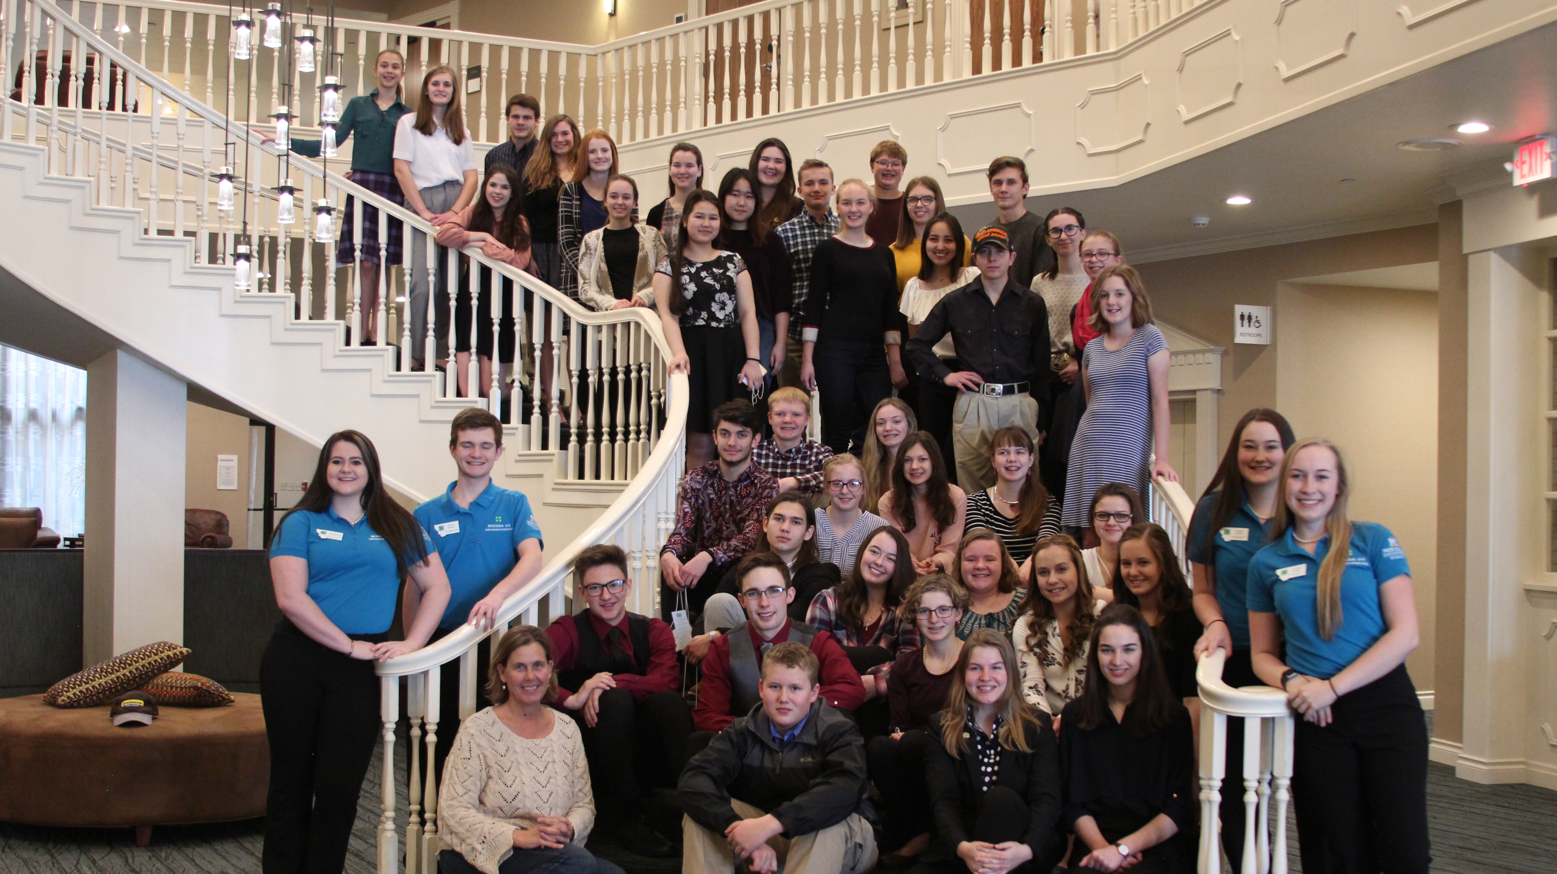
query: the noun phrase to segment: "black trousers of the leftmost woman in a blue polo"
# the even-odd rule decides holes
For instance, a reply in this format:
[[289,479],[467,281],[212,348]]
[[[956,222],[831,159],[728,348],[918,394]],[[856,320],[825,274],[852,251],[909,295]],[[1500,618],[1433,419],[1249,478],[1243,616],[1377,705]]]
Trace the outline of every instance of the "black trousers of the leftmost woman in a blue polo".
[[[386,635],[353,635],[380,642]],[[374,662],[338,653],[282,619],[260,659],[271,746],[265,874],[339,874],[378,737]]]

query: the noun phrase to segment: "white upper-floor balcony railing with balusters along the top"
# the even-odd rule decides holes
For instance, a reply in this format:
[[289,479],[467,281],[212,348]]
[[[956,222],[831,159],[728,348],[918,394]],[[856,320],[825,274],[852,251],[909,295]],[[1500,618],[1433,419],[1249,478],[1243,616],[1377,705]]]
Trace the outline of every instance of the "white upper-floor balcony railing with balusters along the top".
[[[297,12],[291,22],[315,28],[324,50],[339,54],[346,96],[371,90],[374,58],[395,48],[406,58],[408,93],[439,64],[472,72],[467,87],[478,90],[466,95],[466,117],[478,142],[508,138],[503,110],[509,95],[523,92],[547,115],[565,112],[584,129],[632,143],[1107,51],[1197,5],[1023,0],[989,20],[968,0],[763,0],[599,45],[349,19],[327,33],[319,16]],[[263,121],[288,104],[305,123],[318,120],[324,72],[293,79],[291,39],[280,48],[255,45],[252,65],[227,75],[230,20],[223,8],[179,0],[62,6],[207,106],[227,100],[235,118]]]

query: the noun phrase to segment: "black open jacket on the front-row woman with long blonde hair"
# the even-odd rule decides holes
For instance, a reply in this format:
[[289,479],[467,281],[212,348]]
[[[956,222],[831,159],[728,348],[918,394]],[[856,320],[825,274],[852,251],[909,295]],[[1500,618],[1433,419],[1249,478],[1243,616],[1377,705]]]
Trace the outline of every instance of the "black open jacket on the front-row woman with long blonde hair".
[[[945,743],[940,743],[944,715],[945,712],[939,712],[930,717],[926,731],[933,748],[925,759],[925,782],[930,785],[936,838],[940,841],[940,848],[936,849],[954,858],[958,844],[972,840],[968,835],[978,818],[982,781],[978,773],[978,756],[968,753],[953,757],[947,753]],[[1054,729],[1042,714],[1037,728],[1028,728],[1028,746],[1032,753],[1001,748],[995,785],[1010,788],[1028,799],[1031,821],[1021,843],[1032,848],[1032,858],[1057,860],[1063,852],[1060,843],[1063,837],[1056,829],[1060,818],[1060,759]]]

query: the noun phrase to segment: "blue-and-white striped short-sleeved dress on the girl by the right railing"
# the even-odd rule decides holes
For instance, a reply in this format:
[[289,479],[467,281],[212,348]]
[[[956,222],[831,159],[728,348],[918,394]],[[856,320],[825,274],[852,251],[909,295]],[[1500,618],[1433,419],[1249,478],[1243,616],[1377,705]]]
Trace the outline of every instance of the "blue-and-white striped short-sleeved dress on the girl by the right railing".
[[1109,482],[1133,487],[1144,502],[1152,473],[1152,398],[1146,359],[1166,350],[1168,341],[1157,325],[1137,328],[1118,351],[1109,351],[1104,339],[1088,342],[1081,356],[1091,400],[1071,443],[1065,512],[1060,515],[1060,524],[1067,527],[1091,527],[1087,518],[1091,496]]

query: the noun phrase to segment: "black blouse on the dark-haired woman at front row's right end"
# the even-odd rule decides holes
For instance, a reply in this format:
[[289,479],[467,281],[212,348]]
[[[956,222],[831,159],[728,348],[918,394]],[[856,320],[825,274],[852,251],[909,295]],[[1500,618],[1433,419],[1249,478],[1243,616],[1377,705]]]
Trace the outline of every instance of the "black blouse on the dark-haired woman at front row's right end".
[[[1082,700],[1060,715],[1060,788],[1065,795],[1067,827],[1091,816],[1109,841],[1140,829],[1158,813],[1179,826],[1179,834],[1152,854],[1169,863],[1169,871],[1185,871],[1194,862],[1194,731],[1190,711],[1174,701],[1172,722],[1146,737],[1135,736],[1135,708],[1124,709],[1124,722],[1104,714],[1098,728],[1082,729]],[[1087,848],[1077,841],[1077,852]],[[1157,848],[1154,848],[1157,849]]]

